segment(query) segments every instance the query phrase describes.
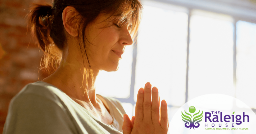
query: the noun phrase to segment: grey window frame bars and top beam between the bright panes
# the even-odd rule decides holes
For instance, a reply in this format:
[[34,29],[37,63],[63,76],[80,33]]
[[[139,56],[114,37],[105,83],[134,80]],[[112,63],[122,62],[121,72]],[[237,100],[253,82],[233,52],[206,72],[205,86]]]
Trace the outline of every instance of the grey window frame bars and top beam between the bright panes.
[[[236,87],[236,23],[238,21],[246,21],[250,23],[256,23],[256,3],[255,5],[239,5],[238,2],[233,1],[229,3],[224,3],[221,1],[205,1],[205,0],[143,0],[144,2],[157,2],[161,4],[168,4],[170,6],[180,6],[181,8],[185,8],[186,10],[182,10],[181,12],[185,12],[188,14],[188,26],[187,26],[187,60],[186,60],[186,89],[185,89],[185,103],[188,101],[188,71],[189,71],[189,43],[190,43],[190,19],[191,12],[193,9],[199,9],[204,11],[209,11],[213,13],[225,14],[229,15],[233,18],[233,84]],[[240,1],[241,2],[241,1]],[[222,8],[219,8],[219,5],[222,5]],[[145,4],[148,5],[148,4]],[[149,5],[152,6],[152,5]],[[156,6],[157,7],[157,6]],[[166,7],[165,7],[166,8]],[[175,11],[175,10],[173,10]],[[116,98],[124,103],[131,103],[133,105],[136,104],[134,101],[134,86],[135,86],[135,70],[136,70],[136,58],[137,58],[137,41],[134,42],[133,48],[133,61],[132,61],[132,75],[131,75],[131,86],[130,86],[130,96],[128,98]],[[235,89],[236,92],[236,89]],[[174,107],[172,105],[167,105],[168,107]],[[256,113],[256,109],[252,108],[252,110]],[[132,109],[134,112],[135,110]],[[133,113],[134,115],[134,113]]]

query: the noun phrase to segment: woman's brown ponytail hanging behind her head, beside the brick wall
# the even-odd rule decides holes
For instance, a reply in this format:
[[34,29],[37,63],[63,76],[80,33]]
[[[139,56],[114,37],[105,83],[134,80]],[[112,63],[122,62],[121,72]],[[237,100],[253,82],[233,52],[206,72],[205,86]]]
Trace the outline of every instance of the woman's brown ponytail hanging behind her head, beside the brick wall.
[[50,36],[53,26],[53,8],[51,5],[35,4],[28,14],[28,21],[31,25],[32,35],[35,35],[40,50],[44,51],[41,59],[41,69],[51,74],[60,64],[62,52],[56,47]]

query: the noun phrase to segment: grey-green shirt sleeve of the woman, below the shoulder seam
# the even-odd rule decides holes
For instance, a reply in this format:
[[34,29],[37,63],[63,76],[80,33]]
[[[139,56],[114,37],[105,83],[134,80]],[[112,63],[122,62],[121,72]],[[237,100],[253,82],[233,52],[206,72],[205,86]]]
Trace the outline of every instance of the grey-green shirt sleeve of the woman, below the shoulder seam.
[[61,104],[32,93],[15,96],[9,106],[3,134],[75,134]]

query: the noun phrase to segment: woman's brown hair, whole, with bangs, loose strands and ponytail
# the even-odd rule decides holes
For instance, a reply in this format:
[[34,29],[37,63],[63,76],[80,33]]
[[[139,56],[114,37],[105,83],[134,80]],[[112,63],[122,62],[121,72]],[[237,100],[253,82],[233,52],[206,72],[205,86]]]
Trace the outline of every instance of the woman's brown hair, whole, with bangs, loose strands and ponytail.
[[[44,57],[40,64],[41,69],[49,74],[58,68],[62,58],[62,50],[66,42],[62,12],[67,6],[74,7],[82,16],[78,36],[82,37],[81,44],[79,41],[82,56],[85,54],[87,57],[86,26],[93,22],[100,13],[110,13],[112,16],[120,14],[121,18],[118,23],[122,23],[125,19],[129,20],[128,15],[132,15],[133,39],[137,35],[142,10],[142,5],[138,0],[54,0],[52,4],[52,6],[35,4],[28,14],[32,33],[36,36],[40,49],[44,51]],[[84,49],[82,50],[82,48]],[[87,61],[91,69],[88,57]]]

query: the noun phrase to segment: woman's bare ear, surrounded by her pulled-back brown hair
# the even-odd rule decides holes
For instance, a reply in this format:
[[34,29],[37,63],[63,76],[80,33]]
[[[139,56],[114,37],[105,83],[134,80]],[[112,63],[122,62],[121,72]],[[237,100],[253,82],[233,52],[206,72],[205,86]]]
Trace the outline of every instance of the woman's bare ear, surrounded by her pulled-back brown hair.
[[67,6],[62,12],[65,30],[73,37],[78,36],[78,12],[72,6]]

